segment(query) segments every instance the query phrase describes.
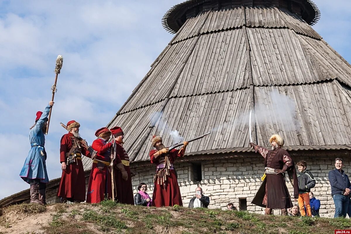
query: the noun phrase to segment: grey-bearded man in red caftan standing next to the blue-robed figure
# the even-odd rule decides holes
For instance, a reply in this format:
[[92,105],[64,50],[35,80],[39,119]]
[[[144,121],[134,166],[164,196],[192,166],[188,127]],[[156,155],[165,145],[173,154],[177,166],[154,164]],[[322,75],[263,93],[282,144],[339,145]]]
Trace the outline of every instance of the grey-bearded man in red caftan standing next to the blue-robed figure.
[[60,162],[62,176],[57,195],[61,202],[85,201],[85,173],[82,155],[91,158],[89,151],[82,146],[79,138],[80,124],[71,120],[67,123],[68,133],[61,138]]

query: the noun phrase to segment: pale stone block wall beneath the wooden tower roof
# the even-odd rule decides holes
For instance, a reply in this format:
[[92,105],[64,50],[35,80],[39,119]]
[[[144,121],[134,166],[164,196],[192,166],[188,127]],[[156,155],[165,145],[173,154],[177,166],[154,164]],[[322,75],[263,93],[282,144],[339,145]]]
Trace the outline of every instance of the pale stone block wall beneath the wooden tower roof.
[[[336,156],[342,157],[345,165],[345,172],[350,174],[350,155],[306,155],[292,156],[295,163],[300,160],[307,162],[309,169],[316,179],[316,186],[311,189],[317,199],[320,200],[320,215],[323,217],[333,217],[335,212],[334,202],[331,196],[331,188],[328,180],[328,172],[335,168],[334,159]],[[201,186],[204,194],[210,197],[209,208],[226,209],[226,205],[232,202],[239,209],[239,199],[245,204],[241,204],[242,208],[246,208],[251,212],[263,213],[263,208],[252,205],[251,201],[261,185],[261,176],[263,174],[263,158],[258,156],[238,157],[236,159],[219,159],[219,160],[203,160],[201,162],[202,180],[194,181],[193,167],[191,162],[176,162],[174,164],[178,173],[178,183],[181,195],[183,197],[183,205],[188,206],[190,199],[194,196],[197,186]],[[152,196],[153,182],[152,178],[155,172],[155,166],[143,166],[133,168],[138,172],[133,178],[134,193],[137,192],[136,187],[139,182],[145,182],[148,185],[148,193]],[[290,194],[293,194],[293,188],[288,182],[286,176],[286,185]],[[293,201],[293,204],[297,202]],[[280,211],[275,210],[275,214]]]

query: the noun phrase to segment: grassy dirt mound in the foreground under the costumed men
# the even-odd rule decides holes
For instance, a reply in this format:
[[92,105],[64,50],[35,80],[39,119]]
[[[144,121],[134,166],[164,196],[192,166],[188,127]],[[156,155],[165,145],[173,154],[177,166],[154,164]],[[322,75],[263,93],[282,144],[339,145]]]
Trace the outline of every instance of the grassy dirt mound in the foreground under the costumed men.
[[21,204],[4,209],[0,234],[103,233],[334,233],[350,229],[350,219],[295,218],[258,215],[246,211],[142,207],[113,201],[99,204]]

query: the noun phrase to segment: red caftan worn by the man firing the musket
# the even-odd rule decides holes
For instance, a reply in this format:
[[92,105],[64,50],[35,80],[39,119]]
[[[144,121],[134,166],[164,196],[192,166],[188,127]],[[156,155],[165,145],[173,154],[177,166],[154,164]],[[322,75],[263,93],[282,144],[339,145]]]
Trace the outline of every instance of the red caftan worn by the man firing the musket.
[[[154,158],[154,153],[157,150],[150,151],[150,160],[151,163],[156,164],[156,172],[164,167],[165,164],[165,156],[161,154],[156,159]],[[176,173],[173,169],[174,159],[177,157],[184,156],[184,149],[172,149],[168,153],[168,157],[171,162],[171,168],[169,170],[170,175],[167,176],[167,180],[163,185],[158,184],[157,181],[154,183],[154,191],[152,194],[152,206],[161,207],[161,206],[174,206],[179,205],[183,206],[183,202],[181,201],[181,194],[179,190],[179,185],[176,177]]]

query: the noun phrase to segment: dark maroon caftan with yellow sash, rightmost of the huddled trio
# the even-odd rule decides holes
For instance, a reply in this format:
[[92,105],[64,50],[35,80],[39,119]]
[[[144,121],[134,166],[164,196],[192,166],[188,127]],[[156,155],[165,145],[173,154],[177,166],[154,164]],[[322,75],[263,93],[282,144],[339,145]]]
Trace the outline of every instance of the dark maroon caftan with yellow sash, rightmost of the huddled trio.
[[[118,163],[123,164],[124,169],[128,174],[128,180],[124,180],[122,178],[121,171],[116,167]],[[113,165],[115,201],[119,203],[134,205],[131,170],[129,167],[129,156],[123,148],[123,146],[118,141],[116,142],[116,158],[113,161]]]

